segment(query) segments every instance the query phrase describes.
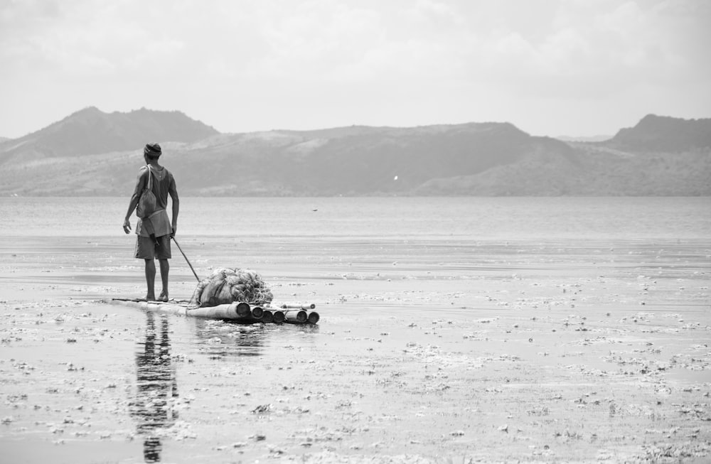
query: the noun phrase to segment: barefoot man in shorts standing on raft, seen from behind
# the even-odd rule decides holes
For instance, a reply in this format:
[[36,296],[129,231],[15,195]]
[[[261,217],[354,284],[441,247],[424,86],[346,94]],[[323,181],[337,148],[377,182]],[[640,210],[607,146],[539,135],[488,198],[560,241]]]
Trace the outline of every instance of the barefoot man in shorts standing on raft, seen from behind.
[[[161,156],[161,146],[159,144],[147,144],[143,151],[143,158],[146,161],[146,166],[141,168],[136,182],[134,194],[129,203],[129,210],[126,213],[124,220],[124,232],[127,234],[131,231],[131,217],[136,205],[138,205],[141,192],[149,184],[149,176],[151,179],[151,190],[156,195],[156,203],[158,210],[149,217],[139,219],[136,224],[136,253],[137,259],[144,259],[146,263],[146,285],[148,292],[146,293],[146,301],[156,301],[155,281],[156,281],[156,262],[157,258],[161,266],[161,281],[163,282],[163,290],[157,301],[168,301],[168,272],[170,265],[168,260],[171,259],[171,237],[176,234],[178,229],[178,210],[180,209],[180,200],[178,199],[178,190],[173,174],[158,163]],[[173,202],[173,220],[168,219],[168,195],[171,196]],[[171,226],[172,224],[172,226]],[[154,239],[151,238],[154,237]]]

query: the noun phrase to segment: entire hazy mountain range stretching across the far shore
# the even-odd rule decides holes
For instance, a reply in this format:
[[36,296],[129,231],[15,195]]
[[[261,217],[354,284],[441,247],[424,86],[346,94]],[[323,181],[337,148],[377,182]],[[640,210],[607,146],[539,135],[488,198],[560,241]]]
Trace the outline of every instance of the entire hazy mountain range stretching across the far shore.
[[711,195],[711,119],[650,114],[572,141],[506,122],[220,134],[181,112],[95,107],[0,140],[0,195],[131,195],[154,141],[181,195]]

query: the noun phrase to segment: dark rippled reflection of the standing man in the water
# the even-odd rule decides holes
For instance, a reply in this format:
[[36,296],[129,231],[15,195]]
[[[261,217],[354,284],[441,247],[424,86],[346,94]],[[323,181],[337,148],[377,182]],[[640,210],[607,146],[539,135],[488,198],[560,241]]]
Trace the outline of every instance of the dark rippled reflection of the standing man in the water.
[[173,402],[178,397],[176,368],[171,362],[171,342],[166,315],[146,311],[146,333],[136,351],[137,392],[130,404],[132,416],[138,422],[139,436],[144,438],[143,453],[146,463],[161,460],[159,430],[175,423],[178,414]]

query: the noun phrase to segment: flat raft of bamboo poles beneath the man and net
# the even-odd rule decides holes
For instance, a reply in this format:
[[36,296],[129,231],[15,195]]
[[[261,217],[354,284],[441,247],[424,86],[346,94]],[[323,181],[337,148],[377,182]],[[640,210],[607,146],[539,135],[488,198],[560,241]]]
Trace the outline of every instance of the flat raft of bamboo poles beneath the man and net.
[[141,301],[129,298],[112,298],[107,301],[114,305],[130,306],[149,311],[160,311],[185,315],[191,318],[234,320],[240,323],[289,323],[316,324],[321,316],[316,311],[316,305],[284,304],[277,308],[269,306],[252,306],[249,303],[231,303],[205,308],[189,306],[188,301]]

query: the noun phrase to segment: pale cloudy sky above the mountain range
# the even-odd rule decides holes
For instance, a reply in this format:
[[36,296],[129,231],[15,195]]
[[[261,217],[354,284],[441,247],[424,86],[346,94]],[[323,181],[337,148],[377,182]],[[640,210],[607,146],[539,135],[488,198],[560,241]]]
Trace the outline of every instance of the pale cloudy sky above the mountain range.
[[85,107],[221,132],[711,117],[707,0],[0,0],[0,136]]

